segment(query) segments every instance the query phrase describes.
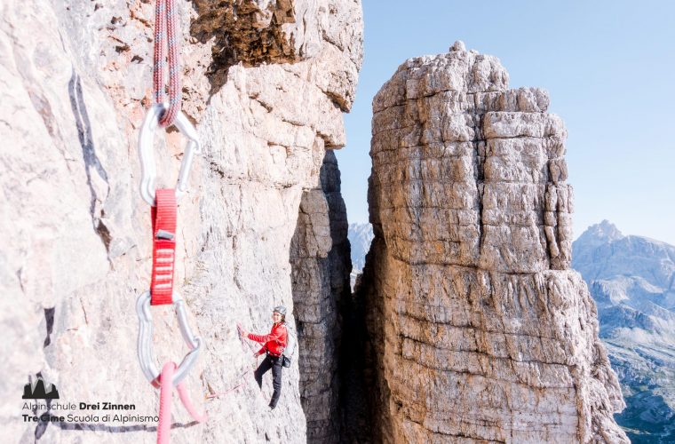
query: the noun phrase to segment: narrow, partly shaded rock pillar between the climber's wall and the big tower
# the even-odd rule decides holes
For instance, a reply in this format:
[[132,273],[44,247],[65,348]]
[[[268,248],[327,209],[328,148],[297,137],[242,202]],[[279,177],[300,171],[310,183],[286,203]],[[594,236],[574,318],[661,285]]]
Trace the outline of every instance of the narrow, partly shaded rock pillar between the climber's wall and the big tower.
[[321,178],[321,188],[302,195],[290,250],[302,369],[300,400],[310,443],[340,440],[340,312],[350,297],[352,269],[338,162],[331,151],[326,152]]

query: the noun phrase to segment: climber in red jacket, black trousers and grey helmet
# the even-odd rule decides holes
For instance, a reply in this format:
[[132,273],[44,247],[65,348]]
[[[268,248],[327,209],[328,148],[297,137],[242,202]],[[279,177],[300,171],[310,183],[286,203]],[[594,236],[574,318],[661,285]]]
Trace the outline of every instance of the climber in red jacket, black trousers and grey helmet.
[[279,401],[279,396],[282,394],[282,356],[288,337],[288,330],[285,325],[285,306],[278,305],[274,307],[272,321],[274,321],[274,324],[272,325],[272,331],[269,332],[269,335],[254,335],[253,333],[242,329],[240,324],[237,324],[237,329],[239,329],[239,334],[242,337],[248,337],[263,345],[258,353],[253,354],[253,356],[257,358],[261,354],[266,353],[265,359],[260,363],[258,369],[253,372],[253,377],[256,378],[258,386],[262,389],[263,375],[266,374],[267,370],[272,369],[272,386],[274,387],[274,393],[272,394],[272,400],[269,401],[269,407],[274,410],[276,403]]

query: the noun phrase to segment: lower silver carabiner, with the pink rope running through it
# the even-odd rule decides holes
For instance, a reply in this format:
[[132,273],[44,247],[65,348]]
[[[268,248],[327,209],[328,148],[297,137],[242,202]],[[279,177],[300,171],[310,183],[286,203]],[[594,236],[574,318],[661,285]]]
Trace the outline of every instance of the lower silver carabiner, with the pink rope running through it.
[[[179,368],[173,375],[173,385],[179,385],[180,381],[187,377],[187,373],[195,365],[197,355],[202,347],[202,338],[195,337],[187,323],[187,313],[185,301],[178,294],[173,292],[173,306],[176,308],[176,317],[179,318],[180,334],[183,336],[190,351],[187,352],[183,361],[180,361]],[[140,369],[146,376],[147,381],[155,388],[159,388],[159,369],[155,365],[155,355],[153,353],[153,316],[150,313],[150,291],[146,291],[139,296],[136,301],[136,313],[139,315],[139,342],[138,354]]]

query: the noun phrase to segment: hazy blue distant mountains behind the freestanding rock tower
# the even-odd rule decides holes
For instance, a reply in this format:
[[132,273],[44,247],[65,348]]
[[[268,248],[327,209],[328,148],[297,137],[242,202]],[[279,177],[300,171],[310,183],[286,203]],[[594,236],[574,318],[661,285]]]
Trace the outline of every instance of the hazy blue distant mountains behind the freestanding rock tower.
[[[350,224],[352,282],[373,239]],[[598,306],[600,338],[627,407],[616,420],[633,443],[675,442],[675,246],[625,236],[608,220],[572,244],[572,266]]]

